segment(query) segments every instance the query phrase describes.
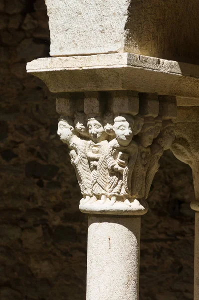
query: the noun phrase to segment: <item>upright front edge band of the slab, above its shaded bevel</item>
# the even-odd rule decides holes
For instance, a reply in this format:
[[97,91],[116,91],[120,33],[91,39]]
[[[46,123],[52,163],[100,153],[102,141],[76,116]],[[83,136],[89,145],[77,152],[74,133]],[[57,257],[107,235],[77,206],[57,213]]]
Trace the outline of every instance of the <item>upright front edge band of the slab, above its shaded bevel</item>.
[[128,67],[199,78],[199,65],[133,53],[61,56],[34,59],[27,63],[27,72]]

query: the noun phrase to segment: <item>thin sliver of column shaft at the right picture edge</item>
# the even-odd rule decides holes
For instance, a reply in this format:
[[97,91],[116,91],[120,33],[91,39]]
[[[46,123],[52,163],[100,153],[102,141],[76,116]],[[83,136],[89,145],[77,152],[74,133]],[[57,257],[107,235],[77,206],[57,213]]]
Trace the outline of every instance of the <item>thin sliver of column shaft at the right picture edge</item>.
[[199,300],[199,211],[195,215],[194,300]]

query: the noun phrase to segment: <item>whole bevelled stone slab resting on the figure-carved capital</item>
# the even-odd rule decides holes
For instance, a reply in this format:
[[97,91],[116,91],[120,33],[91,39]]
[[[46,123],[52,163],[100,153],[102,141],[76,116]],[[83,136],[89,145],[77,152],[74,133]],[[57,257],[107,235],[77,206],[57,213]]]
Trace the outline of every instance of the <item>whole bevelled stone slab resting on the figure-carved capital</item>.
[[199,65],[133,53],[38,58],[27,72],[52,92],[130,89],[199,99]]

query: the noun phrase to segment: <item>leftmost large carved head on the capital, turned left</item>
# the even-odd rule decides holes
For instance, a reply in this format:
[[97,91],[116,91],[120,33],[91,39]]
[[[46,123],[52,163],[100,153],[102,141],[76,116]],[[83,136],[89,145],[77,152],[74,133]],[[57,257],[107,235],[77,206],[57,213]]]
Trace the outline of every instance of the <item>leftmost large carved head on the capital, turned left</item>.
[[74,136],[74,125],[71,117],[61,116],[59,118],[57,134],[64,143],[70,143]]

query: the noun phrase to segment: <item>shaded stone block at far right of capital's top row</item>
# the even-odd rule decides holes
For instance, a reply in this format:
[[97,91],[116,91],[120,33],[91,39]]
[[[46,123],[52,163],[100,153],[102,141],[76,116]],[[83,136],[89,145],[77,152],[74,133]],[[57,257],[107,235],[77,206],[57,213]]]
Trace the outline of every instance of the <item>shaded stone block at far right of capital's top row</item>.
[[159,115],[163,120],[177,117],[177,102],[175,96],[159,96]]

